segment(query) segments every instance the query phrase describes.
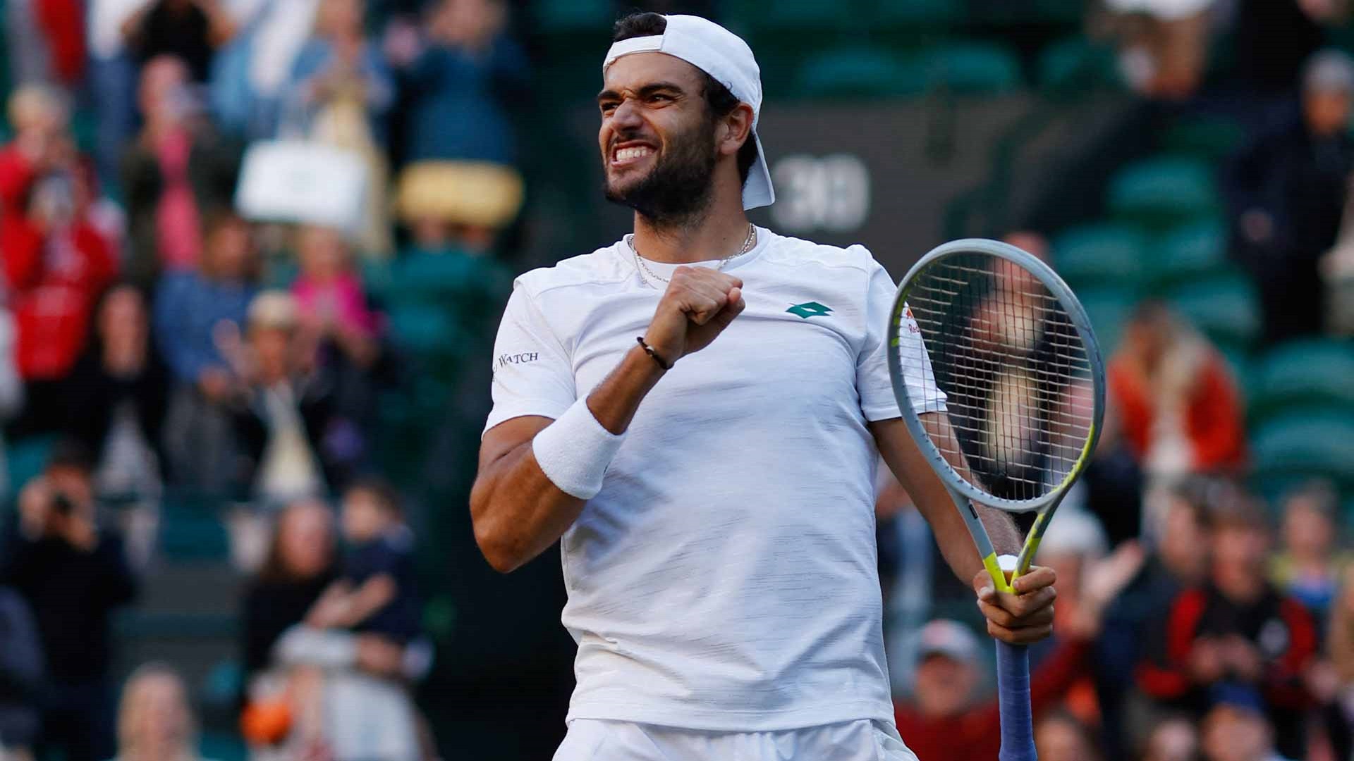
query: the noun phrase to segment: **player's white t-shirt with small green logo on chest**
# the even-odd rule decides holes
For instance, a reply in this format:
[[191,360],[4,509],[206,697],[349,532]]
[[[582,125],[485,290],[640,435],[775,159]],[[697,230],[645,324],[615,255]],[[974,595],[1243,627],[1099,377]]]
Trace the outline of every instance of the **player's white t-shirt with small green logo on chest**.
[[[757,236],[724,267],[747,309],[649,393],[563,535],[569,719],[892,720],[867,421],[899,414],[884,352],[895,284],[862,246]],[[646,284],[626,241],[520,276],[485,429],[586,397],[665,287]]]

